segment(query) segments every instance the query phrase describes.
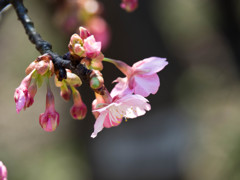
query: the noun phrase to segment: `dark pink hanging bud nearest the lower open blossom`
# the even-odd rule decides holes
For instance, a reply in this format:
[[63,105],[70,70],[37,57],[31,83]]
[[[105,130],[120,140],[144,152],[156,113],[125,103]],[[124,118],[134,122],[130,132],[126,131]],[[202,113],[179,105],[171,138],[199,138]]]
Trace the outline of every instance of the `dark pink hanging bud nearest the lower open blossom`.
[[82,102],[80,93],[74,87],[72,87],[72,94],[73,94],[74,104],[70,109],[70,114],[73,119],[82,120],[85,118],[87,114],[87,107]]

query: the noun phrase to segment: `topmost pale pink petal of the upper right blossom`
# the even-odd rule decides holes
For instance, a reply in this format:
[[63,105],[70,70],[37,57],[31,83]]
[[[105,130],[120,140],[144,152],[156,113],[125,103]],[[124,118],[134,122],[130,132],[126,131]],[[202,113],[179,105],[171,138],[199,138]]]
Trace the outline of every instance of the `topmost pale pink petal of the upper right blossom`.
[[161,71],[167,64],[166,58],[150,57],[136,62],[132,68],[135,73],[151,75]]

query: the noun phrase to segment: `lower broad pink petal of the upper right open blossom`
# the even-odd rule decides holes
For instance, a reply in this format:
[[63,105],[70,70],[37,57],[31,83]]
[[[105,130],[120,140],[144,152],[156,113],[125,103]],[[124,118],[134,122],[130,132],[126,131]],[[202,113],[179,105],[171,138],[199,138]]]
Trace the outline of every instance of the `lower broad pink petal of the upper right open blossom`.
[[157,74],[152,75],[138,75],[133,77],[134,81],[134,93],[140,94],[143,97],[149,96],[149,94],[156,94],[160,86],[160,80]]

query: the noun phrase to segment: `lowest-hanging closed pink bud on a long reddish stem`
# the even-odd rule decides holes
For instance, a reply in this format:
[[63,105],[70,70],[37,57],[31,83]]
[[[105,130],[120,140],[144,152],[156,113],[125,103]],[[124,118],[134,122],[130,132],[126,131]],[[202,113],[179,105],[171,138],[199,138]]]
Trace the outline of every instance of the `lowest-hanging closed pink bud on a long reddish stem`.
[[59,114],[55,110],[54,96],[48,84],[47,95],[46,95],[46,110],[39,116],[39,124],[47,131],[55,131],[59,125]]

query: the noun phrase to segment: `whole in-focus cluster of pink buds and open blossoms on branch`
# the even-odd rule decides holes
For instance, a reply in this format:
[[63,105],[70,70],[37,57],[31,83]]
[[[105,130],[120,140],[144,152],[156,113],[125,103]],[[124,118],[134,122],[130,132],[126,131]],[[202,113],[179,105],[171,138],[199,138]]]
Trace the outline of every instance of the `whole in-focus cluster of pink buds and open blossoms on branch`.
[[[94,138],[104,127],[118,126],[123,118],[136,118],[151,109],[145,97],[158,91],[160,81],[157,72],[168,62],[165,58],[150,57],[136,62],[131,67],[122,61],[104,57],[101,42],[96,42],[94,36],[83,27],[80,27],[79,31],[79,34],[73,34],[70,39],[68,56],[72,62],[81,63],[91,70],[89,85],[96,96],[92,103],[92,113],[96,118],[94,132],[91,135]],[[103,61],[114,64],[126,76],[114,81],[117,84],[110,93],[104,86],[100,72],[103,69]],[[46,110],[39,116],[39,123],[45,131],[54,131],[59,125],[59,114],[55,110],[54,96],[49,84],[49,78],[57,74],[51,56],[48,54],[39,56],[27,67],[26,74],[14,94],[16,110],[20,112],[33,104],[37,87],[45,80]],[[76,89],[81,84],[82,80],[68,69],[67,78],[62,81],[55,75],[55,85],[60,88],[61,97],[68,101],[72,95],[74,104],[70,114],[73,119],[79,120],[87,113],[86,105]]]

